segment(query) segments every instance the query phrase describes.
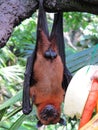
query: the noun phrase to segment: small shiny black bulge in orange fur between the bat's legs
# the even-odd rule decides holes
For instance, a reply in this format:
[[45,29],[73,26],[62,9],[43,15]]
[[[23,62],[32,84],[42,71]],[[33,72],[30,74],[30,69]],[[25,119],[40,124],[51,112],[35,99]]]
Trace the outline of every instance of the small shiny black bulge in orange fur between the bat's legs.
[[50,48],[45,52],[44,57],[47,59],[55,59],[57,57],[57,53]]

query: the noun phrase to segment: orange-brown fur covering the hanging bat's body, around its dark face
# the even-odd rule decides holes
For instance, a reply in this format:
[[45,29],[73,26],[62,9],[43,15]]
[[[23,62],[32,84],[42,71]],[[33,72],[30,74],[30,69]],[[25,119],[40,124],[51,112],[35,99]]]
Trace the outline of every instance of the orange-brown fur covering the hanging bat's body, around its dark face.
[[[62,89],[63,80],[63,64],[58,54],[58,50],[54,41],[49,42],[43,31],[40,31],[41,40],[38,42],[37,56],[34,64],[34,79],[37,81],[30,88],[30,97],[35,97],[34,104],[37,107],[38,118],[43,124],[49,124],[47,121],[40,119],[39,113],[47,105],[52,104],[60,113],[61,103],[64,98],[64,90]],[[55,59],[46,59],[44,52],[51,47],[57,52]],[[57,123],[58,117],[53,123]]]

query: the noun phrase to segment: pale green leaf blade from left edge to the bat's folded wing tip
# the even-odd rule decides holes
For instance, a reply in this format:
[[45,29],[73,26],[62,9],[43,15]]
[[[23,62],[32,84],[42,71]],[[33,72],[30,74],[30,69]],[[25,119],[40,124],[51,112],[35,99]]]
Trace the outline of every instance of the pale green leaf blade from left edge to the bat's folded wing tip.
[[22,99],[22,90],[17,92],[17,94],[10,99],[8,99],[6,102],[0,105],[0,110],[9,107],[10,105],[13,105],[17,101],[20,101]]

